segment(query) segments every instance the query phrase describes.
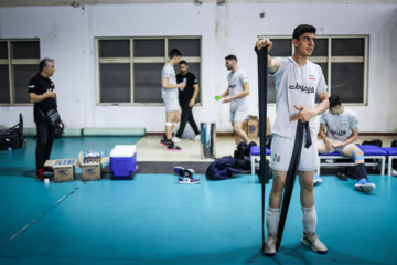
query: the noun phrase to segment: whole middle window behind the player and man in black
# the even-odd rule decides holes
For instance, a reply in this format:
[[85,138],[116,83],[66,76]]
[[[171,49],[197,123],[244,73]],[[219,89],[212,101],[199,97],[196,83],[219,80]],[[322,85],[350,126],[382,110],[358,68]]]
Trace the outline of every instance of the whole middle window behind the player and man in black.
[[[97,104],[163,104],[161,71],[172,49],[181,51],[200,81],[201,38],[97,38]],[[178,74],[179,65],[174,68]]]

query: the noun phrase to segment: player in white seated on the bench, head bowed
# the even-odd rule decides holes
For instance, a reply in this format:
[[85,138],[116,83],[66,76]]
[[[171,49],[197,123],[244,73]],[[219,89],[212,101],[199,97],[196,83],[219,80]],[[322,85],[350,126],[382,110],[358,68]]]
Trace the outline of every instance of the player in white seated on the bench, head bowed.
[[364,153],[353,145],[358,137],[357,115],[344,108],[339,96],[330,97],[330,109],[321,115],[320,136],[322,140],[318,141],[319,153],[337,151],[344,157],[351,157],[358,178],[358,182],[354,184],[356,190],[366,193],[375,190],[375,184],[367,178]]

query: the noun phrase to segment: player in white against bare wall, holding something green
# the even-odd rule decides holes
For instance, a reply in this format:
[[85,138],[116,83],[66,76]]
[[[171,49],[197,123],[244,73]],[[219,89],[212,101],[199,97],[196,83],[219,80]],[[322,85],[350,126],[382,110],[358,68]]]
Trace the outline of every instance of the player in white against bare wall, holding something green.
[[227,75],[228,87],[224,94],[223,103],[230,103],[230,123],[236,145],[244,141],[249,144],[247,134],[243,130],[243,121],[247,117],[249,82],[247,74],[237,67],[237,57],[233,54],[225,57],[226,68],[232,72]]

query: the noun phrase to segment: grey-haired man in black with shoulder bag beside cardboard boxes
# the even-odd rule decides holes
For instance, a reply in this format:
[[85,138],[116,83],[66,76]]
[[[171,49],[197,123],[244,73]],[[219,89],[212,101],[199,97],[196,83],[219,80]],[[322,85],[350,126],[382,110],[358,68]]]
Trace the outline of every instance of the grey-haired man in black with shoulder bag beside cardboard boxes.
[[44,172],[54,172],[51,167],[44,168],[44,162],[50,159],[55,129],[50,127],[45,117],[43,117],[43,114],[50,109],[56,109],[55,85],[49,78],[55,72],[54,60],[43,59],[39,64],[39,71],[40,73],[29,82],[29,100],[34,103],[34,123],[37,128],[36,178],[37,180],[44,180]]

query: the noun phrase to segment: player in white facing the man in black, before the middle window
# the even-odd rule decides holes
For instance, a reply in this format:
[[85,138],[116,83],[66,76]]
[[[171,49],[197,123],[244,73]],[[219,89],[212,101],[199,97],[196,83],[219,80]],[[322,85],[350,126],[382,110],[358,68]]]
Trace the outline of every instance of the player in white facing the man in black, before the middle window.
[[172,141],[172,130],[180,121],[180,105],[178,88],[185,88],[186,84],[176,84],[173,66],[181,60],[182,53],[176,49],[171,50],[170,60],[161,71],[161,98],[165,104],[165,134],[160,145],[165,146],[170,151],[180,151],[181,148]]

